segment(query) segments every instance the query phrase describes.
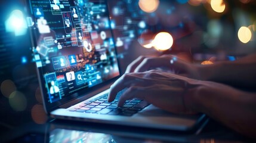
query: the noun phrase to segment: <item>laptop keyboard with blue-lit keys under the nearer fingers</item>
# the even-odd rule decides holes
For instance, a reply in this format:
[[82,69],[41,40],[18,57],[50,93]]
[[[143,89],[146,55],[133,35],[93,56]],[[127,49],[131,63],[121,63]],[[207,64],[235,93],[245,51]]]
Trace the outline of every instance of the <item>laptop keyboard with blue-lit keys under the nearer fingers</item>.
[[118,94],[116,99],[112,102],[107,101],[107,96],[107,94],[104,94],[101,97],[94,98],[93,100],[81,102],[80,104],[69,108],[69,111],[92,114],[132,116],[133,114],[149,105],[149,103],[144,100],[133,99],[126,101],[122,107],[118,107],[118,99],[121,94]]

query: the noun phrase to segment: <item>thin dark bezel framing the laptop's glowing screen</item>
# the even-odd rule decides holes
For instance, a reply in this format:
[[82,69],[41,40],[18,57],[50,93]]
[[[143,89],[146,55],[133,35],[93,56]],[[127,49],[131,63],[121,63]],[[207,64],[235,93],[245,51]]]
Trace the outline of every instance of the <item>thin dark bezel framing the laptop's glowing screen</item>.
[[[104,1],[104,3],[106,4],[106,8],[107,8],[106,14],[109,15],[107,18],[108,18],[108,22],[110,24],[110,14],[109,14],[109,5],[108,5],[109,2]],[[34,17],[33,14],[32,14],[32,7],[30,7],[30,0],[26,0],[26,6],[27,6],[27,8],[26,8],[27,15],[29,17]],[[29,32],[30,32],[30,35],[31,35],[32,47],[36,47],[37,46],[37,43],[36,43],[36,26],[34,25],[34,26],[30,27]],[[110,33],[111,33],[112,38],[115,38],[115,36],[113,35],[113,29],[111,27],[110,27]],[[78,92],[76,92],[74,94],[71,94],[71,95],[68,95],[67,97],[65,97],[65,98],[63,98],[59,101],[55,101],[55,102],[52,102],[52,103],[48,102],[48,99],[47,99],[48,93],[47,93],[47,90],[44,87],[45,82],[44,82],[44,74],[42,73],[42,67],[36,67],[37,74],[38,74],[38,80],[39,80],[39,86],[40,86],[41,94],[42,94],[41,95],[42,96],[42,101],[43,101],[44,109],[45,109],[46,113],[49,114],[51,111],[57,109],[62,104],[65,104],[67,102],[75,100],[79,97],[83,97],[83,96],[87,95],[90,92],[97,91],[97,89],[99,89],[103,86],[107,86],[110,83],[115,82],[115,80],[118,79],[119,77],[121,77],[122,71],[121,71],[120,64],[119,64],[118,51],[117,51],[117,48],[116,48],[115,41],[113,41],[113,43],[114,43],[116,60],[117,60],[118,69],[119,69],[118,76],[113,77],[112,79],[108,79],[108,80],[106,80],[104,82],[101,82],[98,85],[92,86],[90,88],[81,89]],[[101,91],[98,91],[98,92],[101,92]],[[90,97],[88,97],[88,98],[90,98]]]

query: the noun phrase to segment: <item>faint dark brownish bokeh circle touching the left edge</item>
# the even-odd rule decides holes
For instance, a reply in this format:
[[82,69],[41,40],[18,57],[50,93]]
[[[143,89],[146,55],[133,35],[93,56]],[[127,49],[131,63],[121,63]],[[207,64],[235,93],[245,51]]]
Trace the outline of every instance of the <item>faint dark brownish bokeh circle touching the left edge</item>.
[[10,94],[14,91],[16,91],[16,85],[12,80],[4,80],[1,83],[1,92],[5,97],[9,98]]

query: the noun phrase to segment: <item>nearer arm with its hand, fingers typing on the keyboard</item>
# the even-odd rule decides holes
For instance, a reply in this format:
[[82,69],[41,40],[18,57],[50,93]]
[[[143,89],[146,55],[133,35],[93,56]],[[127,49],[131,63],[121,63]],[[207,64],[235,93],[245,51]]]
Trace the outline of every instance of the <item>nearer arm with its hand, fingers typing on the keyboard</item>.
[[151,70],[127,73],[110,88],[108,101],[122,89],[118,105],[140,98],[178,114],[205,113],[244,135],[256,136],[256,94],[227,85]]

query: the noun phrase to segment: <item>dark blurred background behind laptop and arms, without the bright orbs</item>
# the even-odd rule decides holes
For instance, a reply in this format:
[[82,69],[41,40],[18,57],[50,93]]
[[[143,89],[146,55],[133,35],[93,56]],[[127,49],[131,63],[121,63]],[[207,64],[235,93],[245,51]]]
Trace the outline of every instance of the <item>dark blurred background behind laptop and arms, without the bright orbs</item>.
[[[118,57],[122,71],[138,55],[181,54],[194,62],[208,60],[215,55],[241,57],[255,52],[255,1],[224,1],[226,10],[216,13],[207,2],[198,6],[178,1],[160,0],[158,10],[144,13],[138,7],[138,0],[109,1],[110,17],[115,20],[113,33],[120,37],[124,46],[118,47]],[[245,4],[246,3],[246,4]],[[20,10],[26,18],[24,1],[0,2],[0,133],[28,122],[45,123],[47,116],[42,108],[41,94],[33,63],[32,48],[28,29],[24,35],[7,32],[5,21],[12,11]],[[113,14],[113,8],[119,8],[119,14]],[[128,21],[132,22],[129,23]],[[140,21],[146,27],[138,27]],[[252,39],[242,43],[238,39],[241,26],[250,26]],[[125,29],[124,27],[127,26]],[[153,34],[169,32],[174,45],[167,51],[146,49],[138,38],[149,29]],[[129,33],[133,32],[134,37]],[[26,62],[24,62],[24,58]]]

